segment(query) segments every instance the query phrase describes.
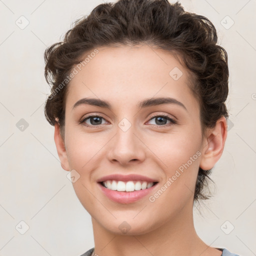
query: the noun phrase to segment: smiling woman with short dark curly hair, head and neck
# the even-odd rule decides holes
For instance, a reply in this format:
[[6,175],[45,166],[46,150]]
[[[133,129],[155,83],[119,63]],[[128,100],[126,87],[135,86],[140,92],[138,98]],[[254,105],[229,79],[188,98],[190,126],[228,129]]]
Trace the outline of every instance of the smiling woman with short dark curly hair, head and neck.
[[205,244],[193,202],[220,158],[226,51],[213,24],[167,0],[96,6],[45,51],[45,116],[92,219],[83,255],[236,255]]

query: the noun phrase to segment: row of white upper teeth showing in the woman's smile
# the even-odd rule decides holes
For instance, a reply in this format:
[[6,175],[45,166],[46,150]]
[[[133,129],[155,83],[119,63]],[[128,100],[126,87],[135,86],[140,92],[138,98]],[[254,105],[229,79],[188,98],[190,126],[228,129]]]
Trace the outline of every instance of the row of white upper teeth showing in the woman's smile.
[[117,190],[117,191],[126,191],[126,192],[132,192],[134,190],[140,190],[140,189],[146,189],[151,186],[153,186],[153,182],[147,182],[147,181],[116,181],[116,180],[106,180],[103,181],[104,187],[111,189],[111,190]]

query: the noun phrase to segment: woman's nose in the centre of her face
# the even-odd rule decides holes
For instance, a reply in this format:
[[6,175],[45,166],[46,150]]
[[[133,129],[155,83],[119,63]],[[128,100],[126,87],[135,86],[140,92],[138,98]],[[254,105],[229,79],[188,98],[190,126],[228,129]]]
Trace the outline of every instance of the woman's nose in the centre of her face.
[[123,130],[117,126],[116,134],[108,144],[109,161],[118,162],[121,165],[144,161],[146,146],[139,132],[136,132],[133,127],[134,125],[131,125],[127,130]]

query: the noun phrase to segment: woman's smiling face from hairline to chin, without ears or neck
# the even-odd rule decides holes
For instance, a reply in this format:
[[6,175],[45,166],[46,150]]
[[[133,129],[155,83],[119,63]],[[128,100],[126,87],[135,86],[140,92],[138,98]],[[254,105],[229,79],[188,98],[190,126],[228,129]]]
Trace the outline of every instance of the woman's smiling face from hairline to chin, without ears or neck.
[[203,150],[199,105],[171,53],[97,49],[68,85],[62,167],[75,170],[75,193],[101,227],[146,233],[191,213]]

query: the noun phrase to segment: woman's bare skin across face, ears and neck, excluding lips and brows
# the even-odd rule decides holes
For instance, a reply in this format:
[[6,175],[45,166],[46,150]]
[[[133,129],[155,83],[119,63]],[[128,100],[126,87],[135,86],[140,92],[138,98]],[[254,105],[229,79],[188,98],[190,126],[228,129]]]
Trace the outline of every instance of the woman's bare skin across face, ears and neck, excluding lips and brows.
[[[75,169],[80,175],[73,187],[91,215],[95,253],[221,255],[197,236],[192,209],[198,168],[210,169],[220,158],[227,135],[226,119],[221,117],[202,137],[199,104],[189,88],[191,77],[170,52],[148,45],[98,50],[68,85],[64,140],[57,124],[54,133],[62,168]],[[173,67],[183,73],[178,80],[169,75]],[[177,104],[142,109],[136,105],[145,98],[166,95],[182,102],[187,110]],[[86,104],[72,109],[84,97],[107,100],[112,109]],[[93,126],[90,119],[79,122],[90,114],[101,115],[102,124]],[[164,119],[159,124],[150,114],[167,114],[177,123]],[[131,124],[125,132],[118,126],[123,118]],[[154,202],[145,196],[133,203],[117,203],[96,183],[108,174],[137,173],[159,181],[152,195],[198,150],[200,156]],[[123,221],[130,227],[125,234],[118,228]]]

